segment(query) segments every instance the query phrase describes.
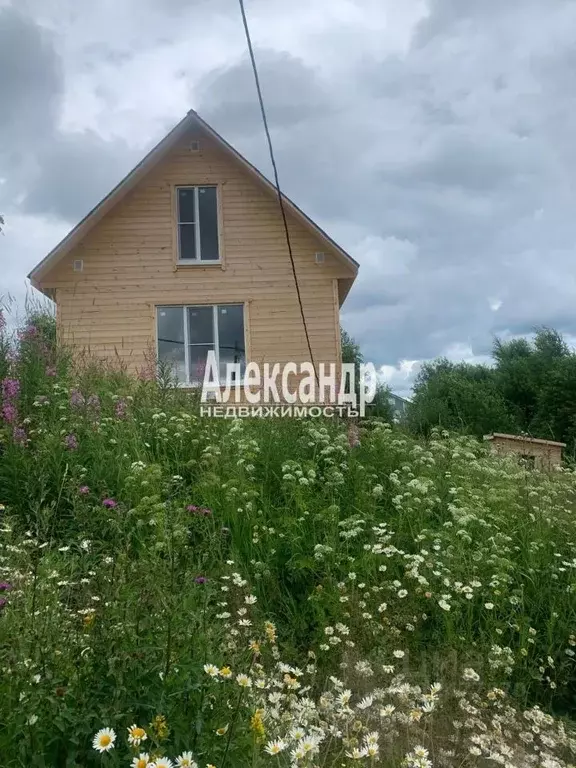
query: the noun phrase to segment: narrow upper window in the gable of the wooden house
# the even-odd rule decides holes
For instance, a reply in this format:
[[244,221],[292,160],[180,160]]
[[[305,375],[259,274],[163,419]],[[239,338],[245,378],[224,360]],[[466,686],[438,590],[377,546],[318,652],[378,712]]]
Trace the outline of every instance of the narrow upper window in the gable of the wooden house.
[[216,187],[177,187],[178,261],[219,261]]

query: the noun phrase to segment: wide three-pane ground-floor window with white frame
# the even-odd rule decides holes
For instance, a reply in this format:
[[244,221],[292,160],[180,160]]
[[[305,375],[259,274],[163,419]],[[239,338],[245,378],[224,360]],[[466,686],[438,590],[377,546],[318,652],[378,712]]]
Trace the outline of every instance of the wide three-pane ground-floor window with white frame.
[[226,381],[226,364],[246,365],[244,306],[158,307],[158,359],[170,367],[180,384],[202,383],[208,352],[213,350],[220,380]]

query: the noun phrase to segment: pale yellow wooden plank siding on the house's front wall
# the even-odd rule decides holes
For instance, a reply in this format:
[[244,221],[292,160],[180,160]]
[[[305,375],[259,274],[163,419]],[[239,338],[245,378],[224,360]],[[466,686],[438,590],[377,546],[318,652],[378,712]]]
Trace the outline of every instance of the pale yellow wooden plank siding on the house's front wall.
[[[199,139],[201,151],[187,145]],[[177,185],[217,184],[222,264],[176,264]],[[338,296],[351,270],[289,217],[314,359],[340,362]],[[326,254],[315,263],[315,252]],[[74,272],[83,259],[82,272]],[[214,141],[191,132],[42,280],[57,292],[63,340],[136,371],[155,346],[155,307],[248,305],[249,359],[301,362],[310,355],[278,202]]]

